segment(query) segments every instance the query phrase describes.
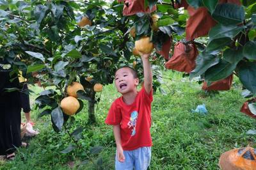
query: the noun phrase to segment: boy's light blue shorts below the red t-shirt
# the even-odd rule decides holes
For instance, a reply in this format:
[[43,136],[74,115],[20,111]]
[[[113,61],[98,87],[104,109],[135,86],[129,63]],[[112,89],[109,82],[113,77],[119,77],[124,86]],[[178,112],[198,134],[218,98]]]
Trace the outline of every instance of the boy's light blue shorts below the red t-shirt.
[[142,147],[136,150],[124,151],[124,162],[119,162],[116,155],[116,170],[147,170],[151,159],[151,147]]

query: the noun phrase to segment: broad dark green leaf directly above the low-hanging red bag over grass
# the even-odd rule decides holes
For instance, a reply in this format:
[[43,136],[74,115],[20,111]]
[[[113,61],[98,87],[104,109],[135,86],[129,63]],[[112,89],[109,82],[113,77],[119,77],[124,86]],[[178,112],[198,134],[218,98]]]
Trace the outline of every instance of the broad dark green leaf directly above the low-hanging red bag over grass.
[[236,63],[231,64],[225,60],[221,60],[220,63],[212,66],[205,72],[205,81],[214,82],[214,81],[220,81],[222,79],[225,79],[226,77],[228,77],[230,74],[233,73],[235,68],[236,68]]

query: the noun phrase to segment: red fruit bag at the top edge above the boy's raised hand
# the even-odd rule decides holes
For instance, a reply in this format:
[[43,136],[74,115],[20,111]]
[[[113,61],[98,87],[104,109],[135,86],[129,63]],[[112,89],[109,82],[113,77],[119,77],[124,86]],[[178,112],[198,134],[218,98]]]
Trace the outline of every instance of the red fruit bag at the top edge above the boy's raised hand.
[[118,0],[118,2],[124,1],[123,15],[134,15],[138,12],[151,13],[156,10],[156,6],[152,10],[147,7],[144,8],[144,0]]

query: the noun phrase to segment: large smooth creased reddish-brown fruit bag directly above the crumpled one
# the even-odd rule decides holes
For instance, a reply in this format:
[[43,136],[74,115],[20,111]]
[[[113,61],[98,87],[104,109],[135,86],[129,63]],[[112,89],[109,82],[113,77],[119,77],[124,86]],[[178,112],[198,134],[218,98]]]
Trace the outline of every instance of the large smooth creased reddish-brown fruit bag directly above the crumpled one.
[[186,24],[186,40],[188,41],[207,35],[210,29],[217,24],[205,7],[195,10],[192,6],[188,6],[188,13],[190,15]]

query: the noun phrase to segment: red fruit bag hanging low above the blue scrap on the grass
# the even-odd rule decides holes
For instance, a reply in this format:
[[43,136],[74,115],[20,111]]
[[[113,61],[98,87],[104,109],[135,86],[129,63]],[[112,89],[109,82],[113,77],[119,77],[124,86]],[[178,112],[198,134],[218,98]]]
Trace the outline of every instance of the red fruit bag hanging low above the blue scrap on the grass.
[[211,90],[229,90],[232,86],[233,74],[229,75],[223,80],[212,82],[208,87],[207,82],[204,82],[202,89],[211,91]]

